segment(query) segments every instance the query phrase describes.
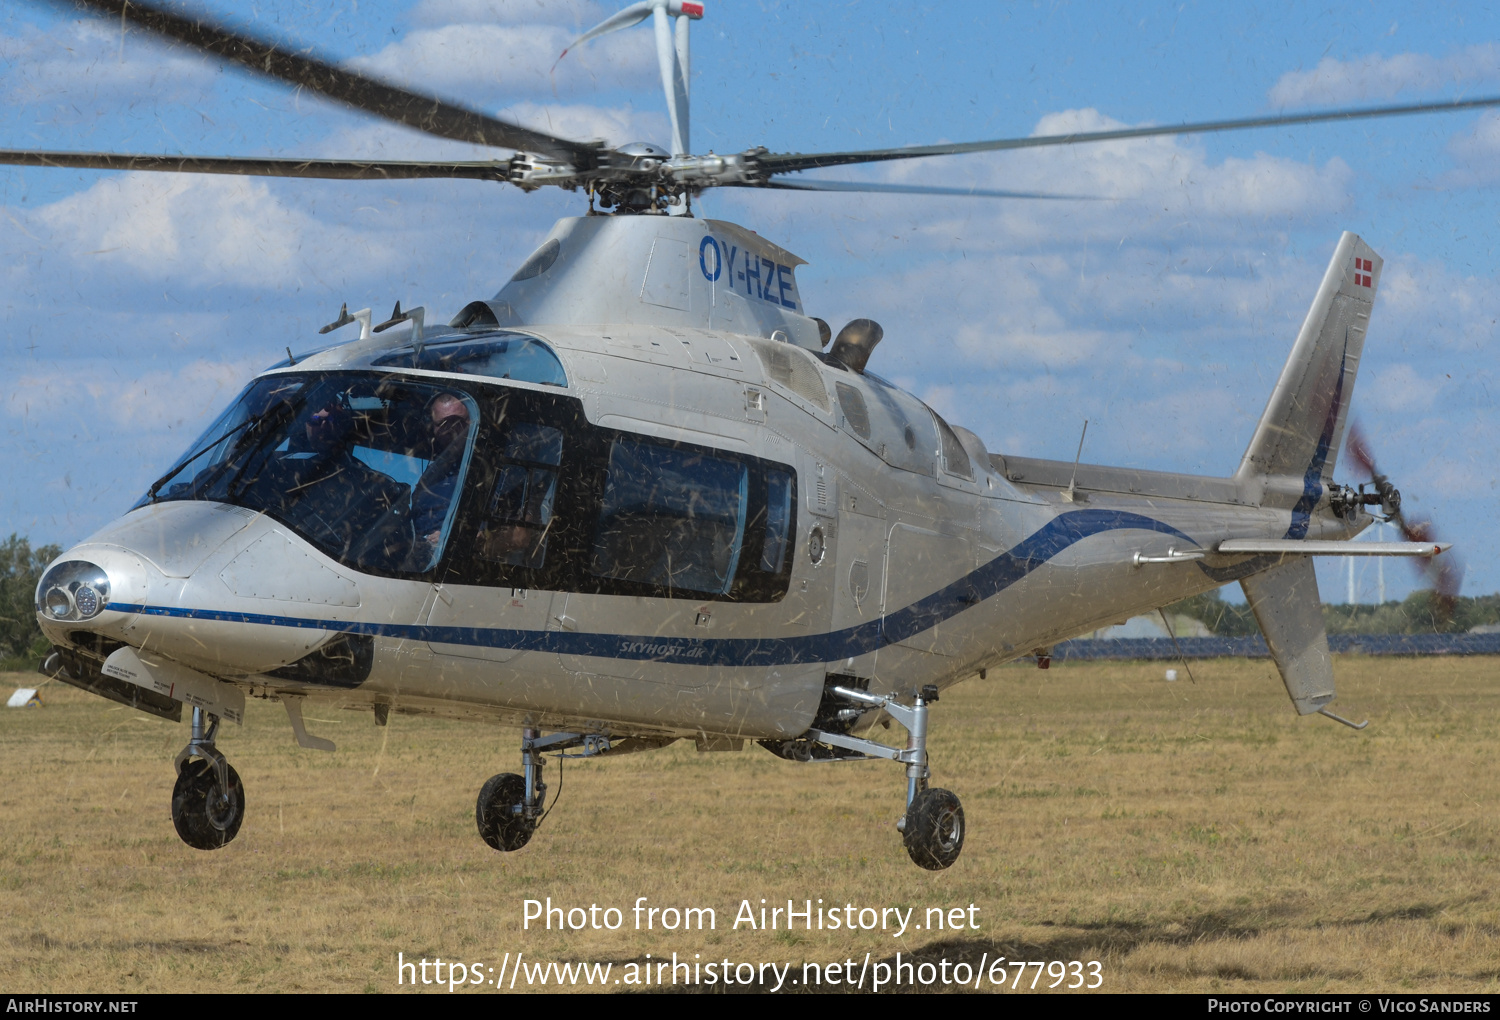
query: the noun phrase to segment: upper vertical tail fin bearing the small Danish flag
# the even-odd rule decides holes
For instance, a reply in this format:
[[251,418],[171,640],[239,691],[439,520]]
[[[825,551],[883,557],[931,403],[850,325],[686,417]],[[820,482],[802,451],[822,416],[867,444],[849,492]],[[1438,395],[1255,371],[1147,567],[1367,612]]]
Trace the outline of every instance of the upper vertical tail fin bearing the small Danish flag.
[[1350,232],[1340,238],[1234,474],[1258,483],[1263,506],[1293,510],[1288,538],[1306,534],[1308,514],[1334,476],[1380,267],[1364,240]]

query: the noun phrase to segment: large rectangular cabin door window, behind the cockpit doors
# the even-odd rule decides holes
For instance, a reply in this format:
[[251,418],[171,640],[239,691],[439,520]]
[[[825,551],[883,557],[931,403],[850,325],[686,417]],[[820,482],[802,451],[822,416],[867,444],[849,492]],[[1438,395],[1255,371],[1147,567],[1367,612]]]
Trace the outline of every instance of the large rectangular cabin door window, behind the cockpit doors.
[[590,572],[668,594],[729,592],[746,531],[747,465],[615,440]]

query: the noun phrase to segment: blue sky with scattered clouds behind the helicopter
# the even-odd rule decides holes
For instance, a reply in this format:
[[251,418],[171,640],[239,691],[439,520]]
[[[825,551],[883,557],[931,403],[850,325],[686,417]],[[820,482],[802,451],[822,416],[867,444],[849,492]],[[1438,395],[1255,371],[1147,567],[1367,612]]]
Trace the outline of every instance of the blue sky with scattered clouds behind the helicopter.
[[[572,136],[666,141],[651,34],[556,52],[616,4],[260,0],[200,9]],[[764,3],[693,27],[694,150],[867,148],[1500,94],[1473,4]],[[120,34],[0,9],[0,147],[488,158]],[[831,178],[1095,202],[711,194],[808,260],[813,314],[886,327],[872,363],[994,450],[1227,474],[1338,240],[1384,258],[1356,414],[1418,513],[1500,590],[1500,116],[912,160]],[[0,170],[0,534],[124,510],[340,302],[438,316],[492,294],[578,195]],[[1346,465],[1344,480],[1358,480]],[[1372,570],[1362,597],[1372,597]],[[1388,567],[1392,597],[1414,574]],[[1323,574],[1344,598],[1338,564]],[[1227,592],[1230,594],[1230,592]]]

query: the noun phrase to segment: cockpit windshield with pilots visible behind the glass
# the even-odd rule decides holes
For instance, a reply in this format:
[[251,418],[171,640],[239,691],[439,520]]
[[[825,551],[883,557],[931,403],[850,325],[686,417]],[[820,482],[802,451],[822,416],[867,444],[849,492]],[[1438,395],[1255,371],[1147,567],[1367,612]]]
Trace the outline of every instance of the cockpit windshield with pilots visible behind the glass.
[[261,510],[375,573],[423,573],[442,552],[478,410],[458,388],[374,374],[270,375],[141,501]]

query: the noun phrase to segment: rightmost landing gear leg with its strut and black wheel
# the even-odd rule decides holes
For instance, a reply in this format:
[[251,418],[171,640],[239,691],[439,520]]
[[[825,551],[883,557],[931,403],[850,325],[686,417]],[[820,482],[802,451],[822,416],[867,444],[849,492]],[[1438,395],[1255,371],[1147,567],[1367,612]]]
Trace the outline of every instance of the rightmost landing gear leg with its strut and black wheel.
[[[927,759],[927,711],[938,700],[938,687],[927,684],[916,692],[910,705],[902,705],[894,698],[882,698],[855,687],[828,687],[826,698],[840,699],[844,705],[858,705],[830,714],[819,714],[837,726],[849,717],[854,722],[870,708],[884,708],[896,722],[906,728],[904,750],[886,747],[872,740],[850,736],[837,729],[810,729],[795,741],[765,741],[768,750],[794,760],[840,760],[858,762],[885,758],[906,765],[906,813],[897,819],[896,830],[906,843],[906,852],[918,867],[940,872],[951,867],[963,852],[963,806],[945,789],[927,786],[932,768]],[[836,702],[837,705],[837,702]]]

